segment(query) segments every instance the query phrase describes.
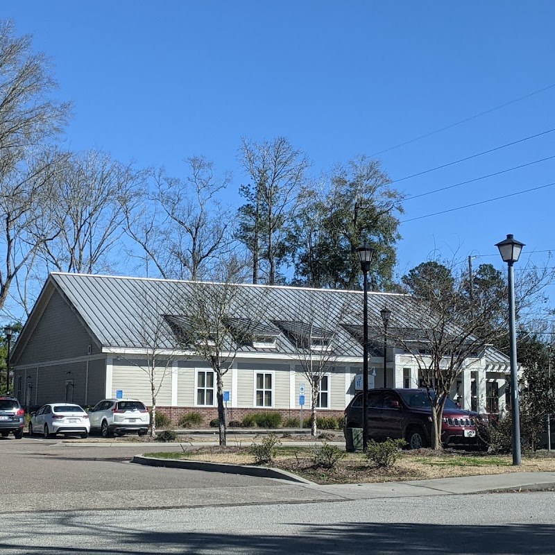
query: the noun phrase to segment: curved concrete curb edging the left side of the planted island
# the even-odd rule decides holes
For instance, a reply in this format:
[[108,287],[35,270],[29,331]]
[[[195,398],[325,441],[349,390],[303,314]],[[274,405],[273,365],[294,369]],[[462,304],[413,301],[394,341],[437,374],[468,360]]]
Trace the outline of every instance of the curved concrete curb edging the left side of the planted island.
[[166,468],[185,468],[187,470],[203,470],[205,472],[224,472],[226,474],[241,474],[244,476],[255,476],[258,478],[273,478],[280,480],[295,481],[299,484],[316,485],[314,482],[294,475],[287,470],[270,468],[267,466],[237,465],[228,463],[209,463],[207,461],[194,461],[191,459],[157,459],[153,456],[135,455],[132,463],[144,464],[146,466],[162,466]]

